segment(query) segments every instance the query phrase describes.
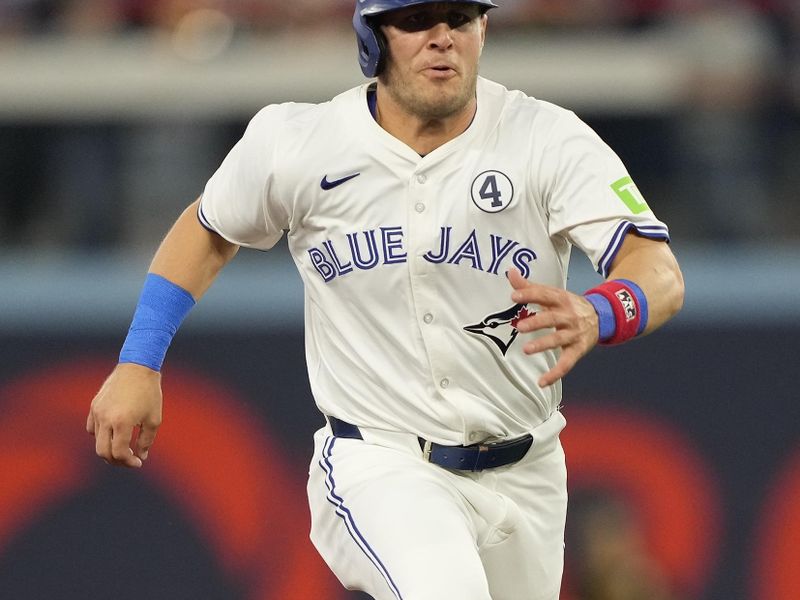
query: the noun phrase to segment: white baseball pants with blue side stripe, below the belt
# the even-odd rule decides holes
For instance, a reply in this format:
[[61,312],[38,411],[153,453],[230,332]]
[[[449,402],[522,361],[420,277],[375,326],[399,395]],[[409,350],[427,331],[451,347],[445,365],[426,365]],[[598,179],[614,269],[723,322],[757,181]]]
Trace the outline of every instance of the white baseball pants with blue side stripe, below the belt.
[[420,459],[413,434],[315,435],[311,539],[349,589],[377,600],[557,600],[566,467],[560,412],[513,466],[463,473]]

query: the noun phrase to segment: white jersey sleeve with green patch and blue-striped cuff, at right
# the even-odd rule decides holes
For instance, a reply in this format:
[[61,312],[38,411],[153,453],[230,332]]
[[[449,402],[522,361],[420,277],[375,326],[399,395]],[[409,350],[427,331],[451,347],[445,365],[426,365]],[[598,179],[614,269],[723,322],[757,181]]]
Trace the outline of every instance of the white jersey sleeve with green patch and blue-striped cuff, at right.
[[629,231],[669,241],[620,158],[573,113],[554,125],[542,170],[550,235],[580,248],[603,277]]

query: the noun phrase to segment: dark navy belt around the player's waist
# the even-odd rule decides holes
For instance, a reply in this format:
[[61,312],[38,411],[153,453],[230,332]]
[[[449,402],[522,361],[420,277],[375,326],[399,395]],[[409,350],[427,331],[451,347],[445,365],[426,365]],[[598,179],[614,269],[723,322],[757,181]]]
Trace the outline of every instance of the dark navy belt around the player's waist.
[[[364,439],[361,431],[355,425],[336,417],[328,417],[328,422],[330,422],[331,431],[336,437]],[[443,446],[422,438],[417,439],[425,460],[440,467],[460,471],[483,471],[510,465],[525,456],[533,444],[533,436],[530,434],[507,442],[472,444],[471,446]]]

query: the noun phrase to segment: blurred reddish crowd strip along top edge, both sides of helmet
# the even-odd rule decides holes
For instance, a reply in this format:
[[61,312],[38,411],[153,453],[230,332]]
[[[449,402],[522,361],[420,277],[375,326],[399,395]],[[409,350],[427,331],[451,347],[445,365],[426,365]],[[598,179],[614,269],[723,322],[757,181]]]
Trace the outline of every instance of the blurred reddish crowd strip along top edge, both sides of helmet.
[[[508,26],[647,27],[682,15],[748,10],[791,28],[796,0],[498,0]],[[194,10],[216,10],[249,31],[346,24],[352,0],[0,0],[0,34],[118,32],[174,26]]]

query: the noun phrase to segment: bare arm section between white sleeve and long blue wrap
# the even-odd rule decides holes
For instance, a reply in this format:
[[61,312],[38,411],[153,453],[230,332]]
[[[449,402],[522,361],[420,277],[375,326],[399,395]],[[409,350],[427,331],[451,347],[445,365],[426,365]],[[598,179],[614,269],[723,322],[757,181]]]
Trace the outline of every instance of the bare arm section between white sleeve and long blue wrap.
[[208,290],[239,246],[208,231],[197,219],[198,201],[178,217],[156,252],[150,272],[189,292],[195,300]]

